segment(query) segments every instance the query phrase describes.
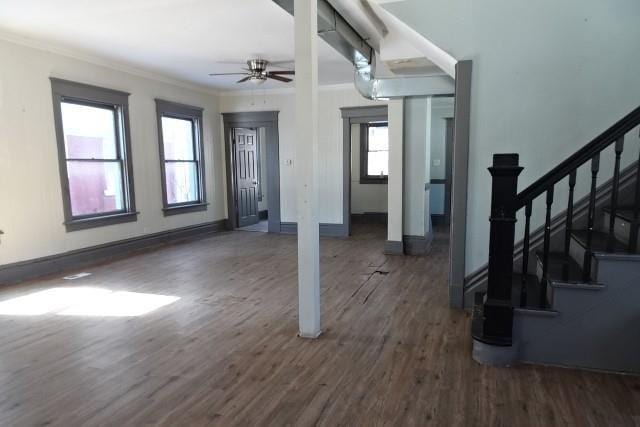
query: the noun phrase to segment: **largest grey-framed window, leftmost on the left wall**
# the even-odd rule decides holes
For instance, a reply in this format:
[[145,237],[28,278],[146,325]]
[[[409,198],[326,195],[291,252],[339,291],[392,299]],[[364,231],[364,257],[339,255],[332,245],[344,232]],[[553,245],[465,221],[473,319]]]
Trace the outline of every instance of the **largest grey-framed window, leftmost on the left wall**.
[[51,79],[67,231],[135,221],[128,93]]

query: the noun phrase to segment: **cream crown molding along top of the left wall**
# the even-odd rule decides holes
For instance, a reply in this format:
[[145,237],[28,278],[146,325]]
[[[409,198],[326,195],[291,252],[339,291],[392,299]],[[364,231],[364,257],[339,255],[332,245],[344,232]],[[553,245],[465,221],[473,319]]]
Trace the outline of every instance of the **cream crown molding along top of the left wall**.
[[57,46],[49,42],[24,37],[15,33],[9,33],[9,32],[0,30],[0,40],[8,43],[52,53],[55,55],[64,56],[64,57],[75,59],[78,61],[87,62],[89,64],[110,68],[115,71],[120,71],[123,73],[131,74],[133,76],[142,77],[148,80],[154,80],[157,82],[181,87],[183,89],[189,89],[195,92],[206,93],[208,95],[213,95],[213,96],[218,96],[220,94],[219,91],[211,87],[187,82],[187,81],[184,81],[175,77],[171,77],[162,73],[157,73],[155,71],[145,70],[136,66],[123,63],[123,62],[108,60],[103,57],[91,55],[85,51],[81,51],[78,49],[71,49],[71,48]]

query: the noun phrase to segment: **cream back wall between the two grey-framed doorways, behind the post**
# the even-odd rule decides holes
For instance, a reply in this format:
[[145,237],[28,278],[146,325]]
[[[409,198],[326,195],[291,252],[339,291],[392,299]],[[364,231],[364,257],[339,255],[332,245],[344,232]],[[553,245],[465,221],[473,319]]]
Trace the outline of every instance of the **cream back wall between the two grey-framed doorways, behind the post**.
[[[220,97],[220,111],[279,111],[280,140],[280,215],[282,222],[296,221],[295,163],[295,108],[294,92],[290,90],[255,90],[230,92]],[[318,183],[321,223],[340,224],[342,218],[342,118],[340,108],[384,103],[364,99],[353,85],[321,87],[318,96],[319,153]]]

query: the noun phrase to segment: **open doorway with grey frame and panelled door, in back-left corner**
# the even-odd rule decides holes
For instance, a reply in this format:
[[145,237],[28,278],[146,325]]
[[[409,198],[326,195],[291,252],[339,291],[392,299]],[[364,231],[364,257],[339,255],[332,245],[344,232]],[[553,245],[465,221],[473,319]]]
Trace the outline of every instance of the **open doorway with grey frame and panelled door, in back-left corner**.
[[229,228],[280,232],[278,113],[223,113]]

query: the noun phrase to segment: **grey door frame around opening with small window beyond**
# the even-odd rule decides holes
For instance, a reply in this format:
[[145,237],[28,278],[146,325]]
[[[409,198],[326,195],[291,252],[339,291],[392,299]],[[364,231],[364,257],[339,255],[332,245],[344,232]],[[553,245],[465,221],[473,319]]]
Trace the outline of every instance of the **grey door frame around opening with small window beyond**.
[[351,235],[351,125],[389,121],[386,105],[343,107],[342,115],[342,235]]

